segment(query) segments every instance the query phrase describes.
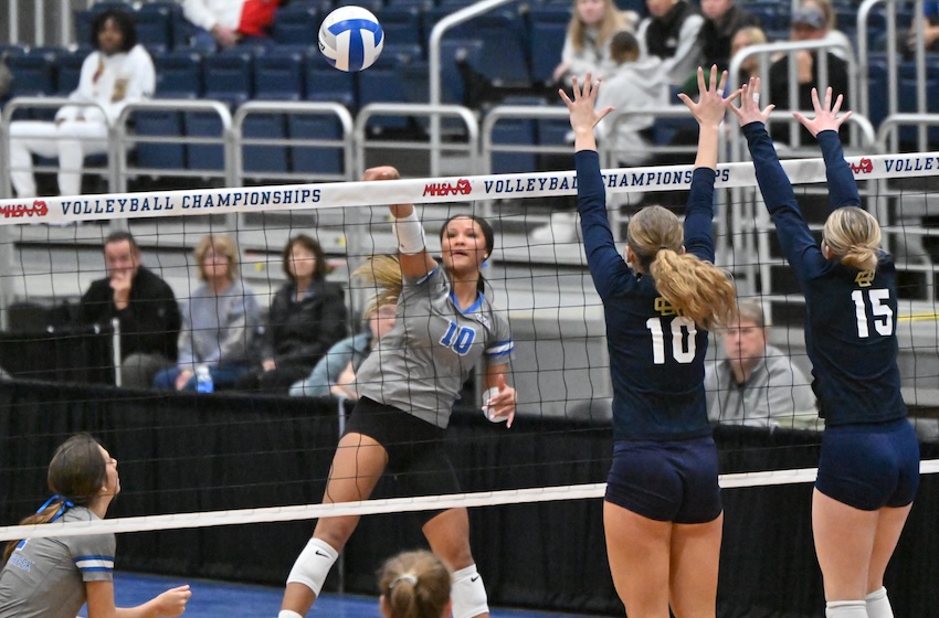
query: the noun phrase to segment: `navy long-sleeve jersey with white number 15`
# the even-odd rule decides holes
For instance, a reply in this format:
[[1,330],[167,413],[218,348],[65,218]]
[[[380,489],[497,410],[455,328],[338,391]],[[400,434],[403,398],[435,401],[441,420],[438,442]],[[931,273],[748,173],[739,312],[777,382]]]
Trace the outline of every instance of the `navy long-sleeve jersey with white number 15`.
[[[880,423],[906,416],[897,367],[897,274],[880,255],[876,270],[825,259],[762,122],[743,127],[757,181],[779,242],[805,295],[805,348],[826,425]],[[817,136],[832,210],[861,206],[836,131]]]

